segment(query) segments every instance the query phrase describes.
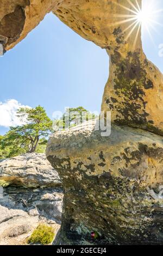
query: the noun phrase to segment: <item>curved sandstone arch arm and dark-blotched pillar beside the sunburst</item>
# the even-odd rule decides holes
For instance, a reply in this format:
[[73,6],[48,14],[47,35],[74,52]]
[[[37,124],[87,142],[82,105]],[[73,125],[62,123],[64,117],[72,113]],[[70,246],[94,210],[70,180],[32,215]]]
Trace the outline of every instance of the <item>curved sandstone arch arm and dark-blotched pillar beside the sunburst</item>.
[[[137,3],[141,7],[141,1]],[[163,76],[143,53],[140,23],[135,26],[135,20],[129,20],[136,16],[133,4],[137,7],[136,0],[72,0],[62,1],[53,12],[109,54],[109,80],[101,110],[111,111],[117,125],[163,135]]]

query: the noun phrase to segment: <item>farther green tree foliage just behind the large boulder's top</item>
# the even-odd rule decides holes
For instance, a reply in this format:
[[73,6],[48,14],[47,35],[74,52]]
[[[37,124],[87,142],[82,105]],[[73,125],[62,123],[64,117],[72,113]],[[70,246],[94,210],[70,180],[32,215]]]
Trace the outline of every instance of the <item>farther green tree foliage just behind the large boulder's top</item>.
[[66,108],[65,113],[60,119],[53,121],[54,131],[65,130],[65,128],[71,128],[78,124],[83,123],[83,121],[93,120],[97,118],[97,115],[92,114],[83,107],[77,108]]

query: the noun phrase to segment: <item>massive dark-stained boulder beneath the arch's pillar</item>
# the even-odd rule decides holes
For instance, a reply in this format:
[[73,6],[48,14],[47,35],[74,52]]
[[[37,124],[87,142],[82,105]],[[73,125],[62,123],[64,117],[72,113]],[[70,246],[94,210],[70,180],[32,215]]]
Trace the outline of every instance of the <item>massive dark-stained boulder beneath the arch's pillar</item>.
[[54,133],[47,159],[58,170],[65,197],[56,243],[160,244],[163,138],[112,125],[102,137],[94,125]]

